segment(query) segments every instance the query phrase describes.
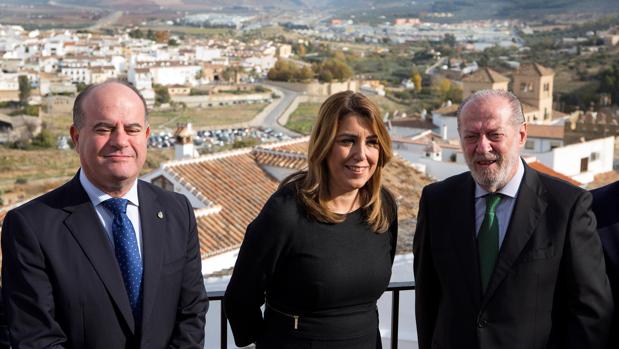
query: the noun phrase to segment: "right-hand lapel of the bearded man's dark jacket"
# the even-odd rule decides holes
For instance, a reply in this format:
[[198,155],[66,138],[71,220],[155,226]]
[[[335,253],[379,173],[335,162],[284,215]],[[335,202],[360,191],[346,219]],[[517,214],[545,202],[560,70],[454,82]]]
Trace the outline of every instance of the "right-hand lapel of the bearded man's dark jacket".
[[482,307],[488,303],[503,279],[511,271],[512,266],[535,231],[546,206],[544,189],[540,185],[539,177],[535,171],[525,164],[524,178],[518,190],[516,204],[505,240],[499,251],[494,273],[482,300]]

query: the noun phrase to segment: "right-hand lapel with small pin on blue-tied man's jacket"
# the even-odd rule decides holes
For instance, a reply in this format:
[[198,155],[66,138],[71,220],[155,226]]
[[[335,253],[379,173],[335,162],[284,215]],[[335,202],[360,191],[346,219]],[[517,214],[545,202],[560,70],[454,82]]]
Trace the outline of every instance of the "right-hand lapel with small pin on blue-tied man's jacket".
[[145,326],[155,306],[155,298],[159,289],[163,243],[166,241],[164,234],[168,233],[166,229],[168,215],[157,200],[155,193],[141,181],[138,181],[138,197],[144,261],[142,326]]

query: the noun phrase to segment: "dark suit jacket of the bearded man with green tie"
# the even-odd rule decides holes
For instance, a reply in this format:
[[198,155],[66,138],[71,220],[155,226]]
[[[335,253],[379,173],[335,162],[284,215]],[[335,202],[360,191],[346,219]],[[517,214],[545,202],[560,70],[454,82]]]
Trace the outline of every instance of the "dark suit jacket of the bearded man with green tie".
[[525,165],[482,294],[469,172],[424,188],[413,243],[419,348],[602,348],[613,310],[591,195]]

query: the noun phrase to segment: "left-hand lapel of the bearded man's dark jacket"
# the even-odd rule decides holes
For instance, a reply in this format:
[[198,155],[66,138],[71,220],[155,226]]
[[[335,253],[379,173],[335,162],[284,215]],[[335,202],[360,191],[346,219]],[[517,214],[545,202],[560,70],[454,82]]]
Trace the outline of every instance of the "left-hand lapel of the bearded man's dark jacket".
[[476,306],[481,300],[481,281],[479,276],[479,260],[477,256],[477,239],[475,234],[475,182],[470,176],[465,177],[462,188],[466,190],[465,195],[454,195],[452,212],[457,212],[450,219],[450,224],[454,233],[454,251],[459,258],[459,265],[462,267],[469,290],[471,301]]

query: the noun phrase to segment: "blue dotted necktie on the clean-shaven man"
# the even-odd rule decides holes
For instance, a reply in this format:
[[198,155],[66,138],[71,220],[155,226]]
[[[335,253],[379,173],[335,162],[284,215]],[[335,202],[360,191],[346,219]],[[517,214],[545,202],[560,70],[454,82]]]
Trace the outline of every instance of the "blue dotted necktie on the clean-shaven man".
[[139,322],[142,312],[142,259],[133,224],[127,217],[127,203],[127,199],[111,198],[101,204],[114,215],[112,222],[114,252],[129,296],[133,317]]

